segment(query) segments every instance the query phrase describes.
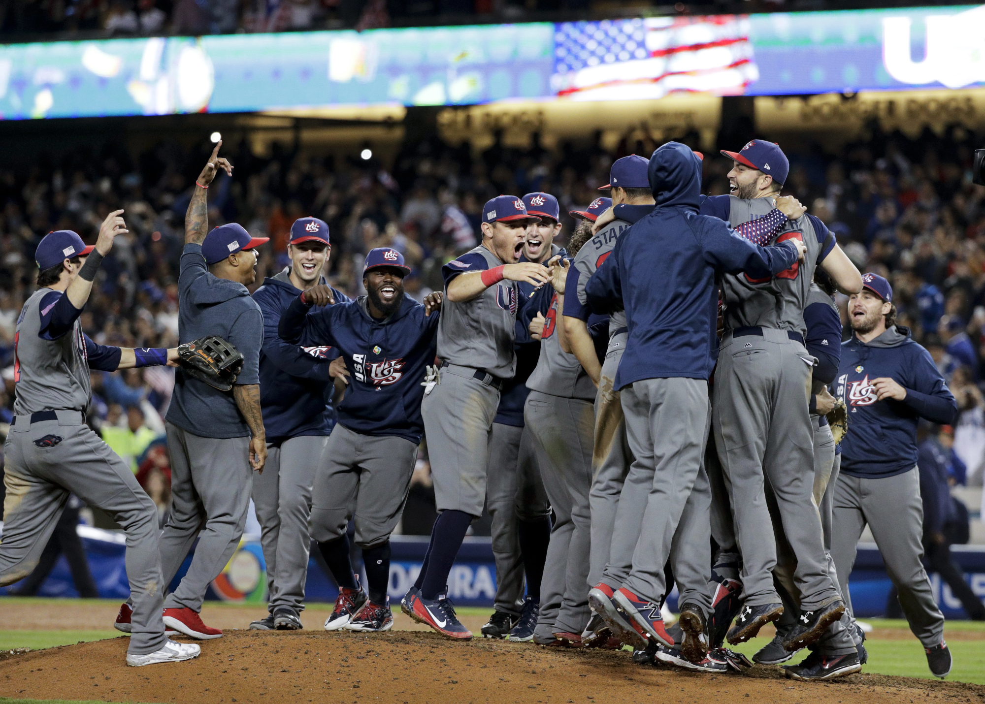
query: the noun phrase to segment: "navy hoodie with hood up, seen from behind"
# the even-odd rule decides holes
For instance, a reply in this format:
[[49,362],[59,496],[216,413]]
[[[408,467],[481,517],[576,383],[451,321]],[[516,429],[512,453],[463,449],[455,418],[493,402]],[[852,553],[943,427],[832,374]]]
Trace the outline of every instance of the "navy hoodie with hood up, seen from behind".
[[656,207],[624,231],[585,286],[593,312],[625,309],[617,389],[640,379],[707,379],[718,352],[716,276],[746,271],[761,279],[797,261],[793,244],[759,247],[698,215],[701,162],[685,145],[660,147],[648,175]]

